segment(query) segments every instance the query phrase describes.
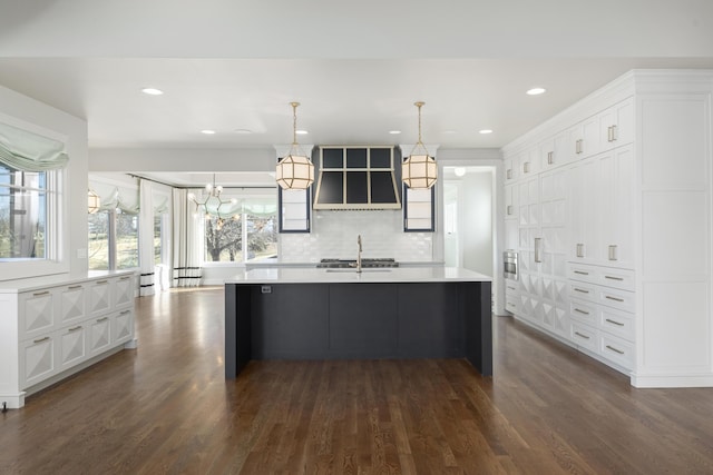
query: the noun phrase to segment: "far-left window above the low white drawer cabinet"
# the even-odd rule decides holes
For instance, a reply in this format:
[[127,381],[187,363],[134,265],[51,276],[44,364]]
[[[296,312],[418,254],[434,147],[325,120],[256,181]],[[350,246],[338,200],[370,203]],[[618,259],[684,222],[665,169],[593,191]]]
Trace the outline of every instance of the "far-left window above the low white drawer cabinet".
[[22,171],[0,165],[0,259],[51,258],[48,207],[51,171]]

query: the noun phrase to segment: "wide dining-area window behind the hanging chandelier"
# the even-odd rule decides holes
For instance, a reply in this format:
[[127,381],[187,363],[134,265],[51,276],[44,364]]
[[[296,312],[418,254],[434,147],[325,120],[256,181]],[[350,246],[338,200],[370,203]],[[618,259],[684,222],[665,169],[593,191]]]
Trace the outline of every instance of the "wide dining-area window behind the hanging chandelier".
[[[206,214],[204,261],[246,263],[277,257],[277,200],[241,197],[221,216]],[[247,243],[245,246],[244,243]]]

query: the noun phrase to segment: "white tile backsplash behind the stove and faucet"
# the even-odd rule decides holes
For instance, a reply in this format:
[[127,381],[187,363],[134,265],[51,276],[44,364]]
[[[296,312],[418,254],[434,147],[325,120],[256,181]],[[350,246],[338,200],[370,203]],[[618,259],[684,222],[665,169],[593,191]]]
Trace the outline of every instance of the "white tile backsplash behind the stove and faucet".
[[311,234],[280,235],[280,260],[319,263],[322,258],[393,257],[398,261],[433,259],[432,232],[403,232],[401,210],[313,211]]

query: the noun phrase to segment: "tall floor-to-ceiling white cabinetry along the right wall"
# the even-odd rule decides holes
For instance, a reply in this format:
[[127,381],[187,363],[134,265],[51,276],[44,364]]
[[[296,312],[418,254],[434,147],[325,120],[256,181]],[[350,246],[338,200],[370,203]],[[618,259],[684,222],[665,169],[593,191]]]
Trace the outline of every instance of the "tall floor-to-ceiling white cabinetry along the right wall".
[[[508,309],[634,386],[713,386],[712,122],[713,70],[634,70],[504,147],[508,164],[540,150],[538,174],[515,168],[505,182],[520,194],[526,276],[515,290],[506,280]],[[547,185],[557,171],[561,187]],[[558,300],[566,331],[551,325]]]

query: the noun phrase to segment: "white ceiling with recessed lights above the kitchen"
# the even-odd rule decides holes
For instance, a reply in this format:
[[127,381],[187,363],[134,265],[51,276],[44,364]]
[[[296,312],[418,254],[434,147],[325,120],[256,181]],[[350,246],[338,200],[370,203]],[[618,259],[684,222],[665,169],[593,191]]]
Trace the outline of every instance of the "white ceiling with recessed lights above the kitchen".
[[412,144],[416,100],[424,142],[501,147],[632,68],[713,68],[709,0],[0,0],[0,85],[87,119],[91,148],[285,144],[290,101],[300,142]]

